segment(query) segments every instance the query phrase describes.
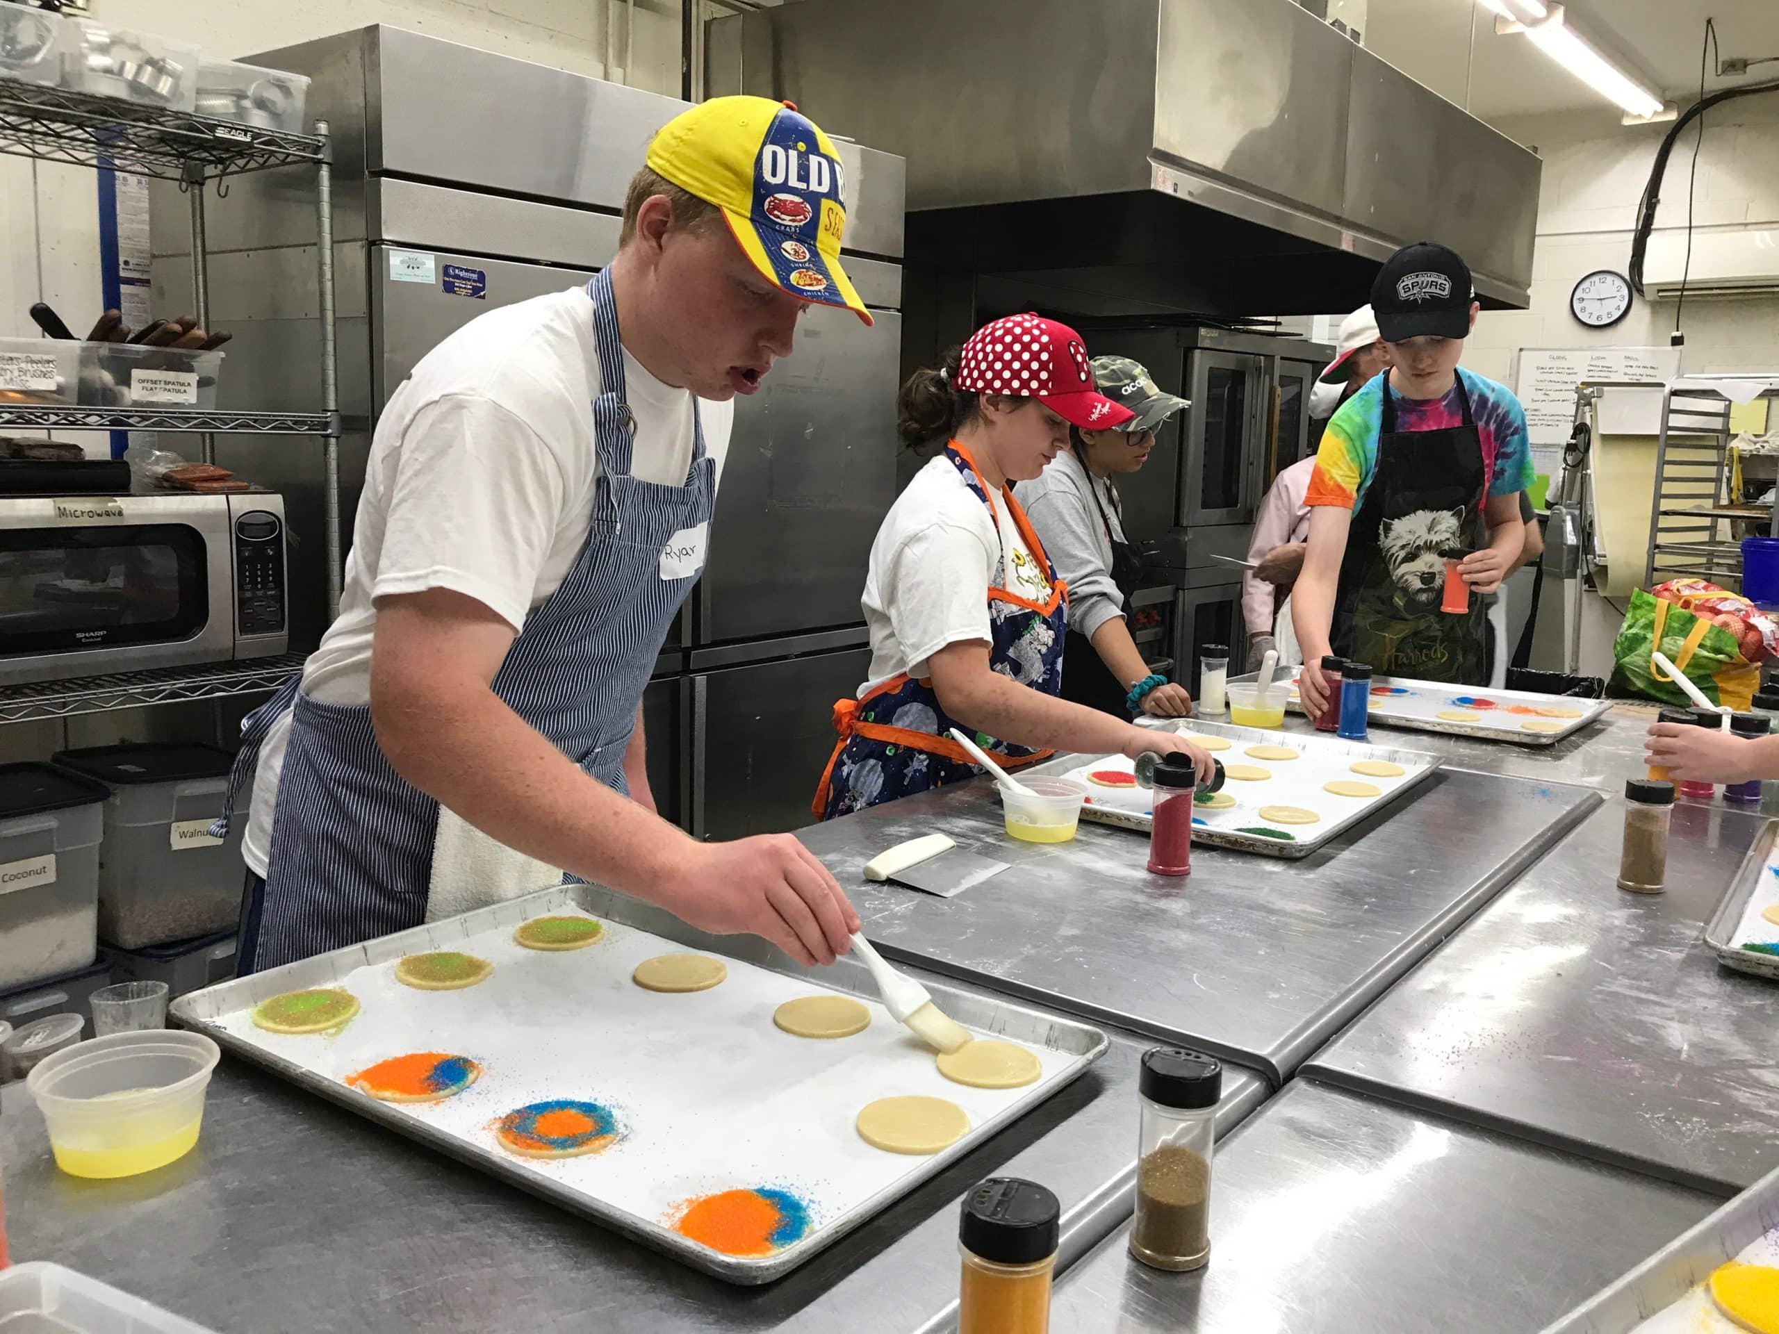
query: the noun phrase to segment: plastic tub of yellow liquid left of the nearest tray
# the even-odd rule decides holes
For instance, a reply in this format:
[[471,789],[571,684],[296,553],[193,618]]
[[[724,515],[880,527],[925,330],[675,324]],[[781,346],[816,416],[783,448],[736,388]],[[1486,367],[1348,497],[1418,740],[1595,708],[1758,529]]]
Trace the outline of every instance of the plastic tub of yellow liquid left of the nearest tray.
[[96,1037],[46,1057],[25,1080],[69,1176],[153,1172],[190,1153],[221,1049],[203,1033]]

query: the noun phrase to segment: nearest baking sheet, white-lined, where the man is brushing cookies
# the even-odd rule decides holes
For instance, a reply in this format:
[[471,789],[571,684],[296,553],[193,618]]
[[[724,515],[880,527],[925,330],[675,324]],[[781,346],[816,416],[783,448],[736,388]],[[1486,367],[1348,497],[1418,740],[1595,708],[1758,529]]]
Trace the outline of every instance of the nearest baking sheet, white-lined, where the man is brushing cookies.
[[[512,928],[534,916],[584,912],[605,937],[562,953],[523,950]],[[720,955],[729,976],[690,994],[637,987],[632,969],[672,950]],[[463,991],[415,991],[393,964],[425,950],[468,950],[495,964]],[[262,1000],[345,985],[363,1005],[336,1035],[254,1028]],[[854,1037],[795,1039],[772,1025],[785,1000],[834,991],[857,996],[872,1025]],[[671,914],[598,886],[559,886],[377,941],[317,955],[181,996],[174,1019],[233,1055],[267,1067],[363,1117],[598,1218],[729,1282],[769,1282],[941,1172],[982,1140],[1080,1076],[1108,1044],[1098,1028],[1010,1001],[934,987],[946,1014],[978,1035],[1037,1051],[1042,1074],[1009,1090],[945,1080],[932,1051],[877,1003],[863,964],[804,969],[765,941],[706,936]],[[463,1094],[432,1105],[372,1099],[343,1083],[350,1071],[409,1051],[447,1051],[484,1065]],[[865,1144],[865,1103],[927,1094],[957,1103],[971,1129],[930,1156]],[[624,1138],[584,1158],[530,1160],[502,1149],[493,1122],[544,1097],[598,1101]],[[667,1226],[687,1199],[747,1186],[788,1190],[809,1209],[806,1236],[767,1256],[729,1256]]]

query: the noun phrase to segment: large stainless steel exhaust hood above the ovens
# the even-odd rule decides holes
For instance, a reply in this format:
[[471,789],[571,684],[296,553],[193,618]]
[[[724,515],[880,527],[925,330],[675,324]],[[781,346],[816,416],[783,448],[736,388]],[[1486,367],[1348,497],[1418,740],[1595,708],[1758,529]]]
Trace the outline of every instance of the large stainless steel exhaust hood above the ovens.
[[802,0],[710,23],[706,92],[907,158],[911,267],[1083,315],[1361,304],[1398,245],[1528,304],[1537,155],[1290,0]]

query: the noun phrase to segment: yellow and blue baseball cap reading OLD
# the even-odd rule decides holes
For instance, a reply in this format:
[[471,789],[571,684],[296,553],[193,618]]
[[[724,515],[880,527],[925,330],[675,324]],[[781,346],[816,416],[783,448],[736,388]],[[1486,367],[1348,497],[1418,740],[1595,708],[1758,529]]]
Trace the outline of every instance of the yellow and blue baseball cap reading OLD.
[[777,286],[873,324],[840,267],[845,176],[833,141],[788,101],[712,98],[649,142],[656,174],[722,210],[737,244]]

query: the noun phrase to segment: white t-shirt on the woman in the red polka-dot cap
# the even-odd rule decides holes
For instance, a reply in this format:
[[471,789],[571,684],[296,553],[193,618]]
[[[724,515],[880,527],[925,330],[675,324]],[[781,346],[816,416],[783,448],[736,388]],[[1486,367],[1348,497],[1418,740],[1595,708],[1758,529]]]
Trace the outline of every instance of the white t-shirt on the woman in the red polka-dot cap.
[[893,676],[925,678],[927,658],[946,644],[993,642],[987,589],[996,560],[1005,587],[1044,603],[1050,580],[994,493],[994,514],[964,486],[943,454],[914,473],[872,542],[865,575],[865,626],[872,633],[870,679],[859,697]]

